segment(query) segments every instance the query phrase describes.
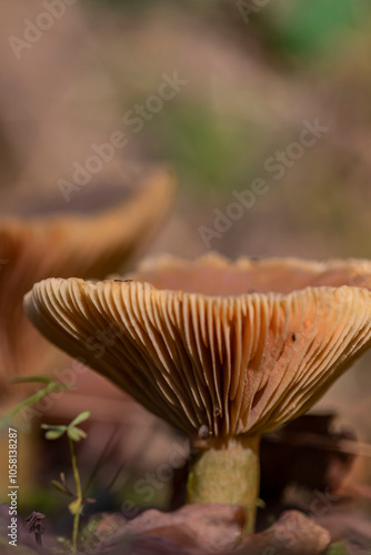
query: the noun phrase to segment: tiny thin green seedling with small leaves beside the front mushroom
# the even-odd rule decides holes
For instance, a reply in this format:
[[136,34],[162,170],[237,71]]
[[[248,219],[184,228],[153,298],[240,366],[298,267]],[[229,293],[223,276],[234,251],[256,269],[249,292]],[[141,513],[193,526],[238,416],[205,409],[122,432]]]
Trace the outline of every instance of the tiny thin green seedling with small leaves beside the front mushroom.
[[76,450],[74,450],[74,442],[79,442],[79,441],[84,440],[87,437],[87,433],[83,430],[81,430],[80,427],[78,427],[78,424],[81,424],[82,422],[88,420],[89,416],[90,416],[89,412],[83,412],[83,413],[79,414],[68,426],[41,424],[41,427],[43,430],[47,430],[47,432],[46,432],[47,440],[59,440],[63,434],[67,434],[69,445],[70,445],[71,463],[72,463],[76,492],[73,493],[68,487],[68,485],[66,483],[64,474],[60,475],[60,482],[58,482],[57,480],[53,480],[52,484],[59,492],[61,492],[62,494],[72,498],[71,503],[69,504],[69,511],[70,511],[71,515],[73,516],[73,532],[72,532],[72,553],[73,553],[73,555],[76,555],[76,553],[77,553],[79,523],[80,523],[80,515],[82,513],[83,506],[86,503],[94,503],[94,500],[84,498],[82,496],[81,480],[80,480],[80,473],[79,473],[79,468],[78,468],[78,464],[77,464]]

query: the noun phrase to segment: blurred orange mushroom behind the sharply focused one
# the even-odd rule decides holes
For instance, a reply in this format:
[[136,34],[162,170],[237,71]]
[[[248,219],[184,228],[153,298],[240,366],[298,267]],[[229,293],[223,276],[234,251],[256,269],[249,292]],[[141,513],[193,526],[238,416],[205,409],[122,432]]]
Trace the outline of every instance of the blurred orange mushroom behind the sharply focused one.
[[[51,350],[24,317],[22,299],[49,275],[102,279],[122,269],[153,234],[173,198],[173,178],[152,171],[131,200],[93,214],[0,220],[0,400],[8,376],[40,373]],[[118,189],[118,188],[117,188]],[[121,193],[122,188],[118,190]],[[97,191],[96,191],[97,193]],[[94,191],[91,192],[91,198]],[[90,202],[90,196],[86,196]]]

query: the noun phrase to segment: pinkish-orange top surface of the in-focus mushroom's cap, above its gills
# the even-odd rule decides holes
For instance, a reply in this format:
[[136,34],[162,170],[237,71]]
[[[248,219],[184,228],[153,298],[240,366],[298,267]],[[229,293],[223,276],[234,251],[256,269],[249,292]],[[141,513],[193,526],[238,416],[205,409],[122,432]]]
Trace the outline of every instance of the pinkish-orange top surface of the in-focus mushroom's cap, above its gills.
[[350,285],[371,289],[371,262],[240,258],[233,264],[210,253],[194,261],[169,255],[144,260],[133,278],[157,289],[176,289],[207,295],[291,293],[304,287]]

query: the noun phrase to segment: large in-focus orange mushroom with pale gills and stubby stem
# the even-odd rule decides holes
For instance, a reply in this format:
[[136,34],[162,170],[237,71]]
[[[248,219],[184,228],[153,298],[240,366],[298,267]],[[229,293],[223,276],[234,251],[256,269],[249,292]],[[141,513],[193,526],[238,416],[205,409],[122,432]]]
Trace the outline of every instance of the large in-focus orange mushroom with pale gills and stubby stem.
[[[308,411],[371,346],[371,292],[349,285],[370,270],[168,256],[127,281],[42,281],[24,306],[51,342],[187,433],[199,448],[189,502],[241,504],[251,532],[260,436]],[[94,356],[91,337],[108,327],[116,342]]]

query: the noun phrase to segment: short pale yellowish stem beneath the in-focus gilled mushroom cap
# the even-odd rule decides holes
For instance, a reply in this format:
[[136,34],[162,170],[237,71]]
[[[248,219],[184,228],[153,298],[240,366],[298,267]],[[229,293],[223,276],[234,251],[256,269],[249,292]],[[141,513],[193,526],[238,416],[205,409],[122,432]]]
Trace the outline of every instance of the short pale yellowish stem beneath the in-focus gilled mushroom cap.
[[245,533],[252,533],[259,495],[259,442],[260,436],[203,442],[189,474],[188,502],[242,505],[247,511]]

